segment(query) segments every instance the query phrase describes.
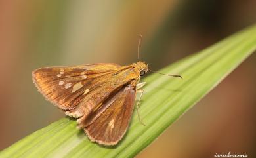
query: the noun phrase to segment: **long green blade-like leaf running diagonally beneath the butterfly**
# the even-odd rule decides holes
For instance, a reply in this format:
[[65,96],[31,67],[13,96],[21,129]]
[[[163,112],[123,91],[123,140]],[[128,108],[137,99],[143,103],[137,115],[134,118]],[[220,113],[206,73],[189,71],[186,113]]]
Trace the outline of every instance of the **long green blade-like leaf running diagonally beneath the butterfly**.
[[74,120],[63,118],[4,149],[0,157],[134,157],[255,49],[256,26],[252,26],[161,70],[178,73],[184,79],[158,74],[146,77],[140,102],[146,126],[139,123],[135,112],[127,134],[117,146],[90,142],[83,131],[75,128]]

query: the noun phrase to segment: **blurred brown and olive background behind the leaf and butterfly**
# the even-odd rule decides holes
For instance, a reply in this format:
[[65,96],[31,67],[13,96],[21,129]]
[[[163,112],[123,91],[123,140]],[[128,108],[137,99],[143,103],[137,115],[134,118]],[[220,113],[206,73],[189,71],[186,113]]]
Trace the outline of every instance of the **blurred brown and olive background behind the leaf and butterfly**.
[[[255,0],[0,1],[0,149],[64,117],[33,69],[140,58],[160,69],[256,22]],[[253,54],[137,157],[256,156]]]

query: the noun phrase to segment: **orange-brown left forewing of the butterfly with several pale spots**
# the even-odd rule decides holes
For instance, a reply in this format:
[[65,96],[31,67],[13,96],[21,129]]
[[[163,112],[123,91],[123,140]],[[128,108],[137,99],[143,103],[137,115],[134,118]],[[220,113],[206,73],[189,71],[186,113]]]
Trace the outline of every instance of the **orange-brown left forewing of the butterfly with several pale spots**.
[[36,69],[32,77],[37,89],[47,100],[67,111],[83,101],[89,88],[104,83],[119,68],[117,64],[49,67]]

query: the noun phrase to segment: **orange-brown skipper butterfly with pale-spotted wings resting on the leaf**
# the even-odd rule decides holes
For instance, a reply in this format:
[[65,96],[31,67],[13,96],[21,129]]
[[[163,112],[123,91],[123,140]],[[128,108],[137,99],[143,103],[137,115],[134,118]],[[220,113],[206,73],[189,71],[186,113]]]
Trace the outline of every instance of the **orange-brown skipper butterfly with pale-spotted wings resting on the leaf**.
[[135,96],[140,92],[141,98],[145,85],[140,77],[148,70],[140,61],[129,66],[100,63],[39,68],[32,77],[47,100],[77,118],[92,142],[108,146],[117,144],[129,127]]

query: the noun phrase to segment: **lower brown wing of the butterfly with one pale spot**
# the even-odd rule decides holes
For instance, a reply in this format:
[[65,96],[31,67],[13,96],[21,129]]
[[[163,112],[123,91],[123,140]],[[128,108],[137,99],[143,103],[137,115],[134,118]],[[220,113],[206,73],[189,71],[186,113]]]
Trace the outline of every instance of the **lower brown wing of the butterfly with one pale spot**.
[[127,85],[121,88],[102,106],[102,108],[105,106],[108,108],[104,109],[90,125],[84,127],[89,139],[104,145],[117,144],[129,126],[134,104],[135,87]]

